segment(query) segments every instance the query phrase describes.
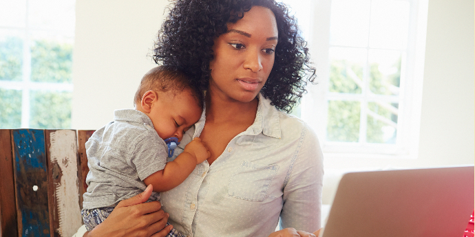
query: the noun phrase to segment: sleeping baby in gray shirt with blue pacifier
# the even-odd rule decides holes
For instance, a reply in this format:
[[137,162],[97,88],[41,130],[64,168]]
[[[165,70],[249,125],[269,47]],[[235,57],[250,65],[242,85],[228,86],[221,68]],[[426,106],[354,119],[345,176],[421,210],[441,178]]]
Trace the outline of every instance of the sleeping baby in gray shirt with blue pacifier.
[[[151,69],[140,82],[135,109],[114,111],[114,121],[86,142],[89,173],[81,214],[88,231],[102,223],[119,201],[139,194],[149,184],[154,187],[149,201],[160,200],[159,192],[178,186],[209,158],[207,147],[195,138],[167,163],[173,150],[164,139],[171,137],[179,144],[203,109],[202,94],[187,79],[164,66]],[[168,236],[183,235],[172,229]]]

